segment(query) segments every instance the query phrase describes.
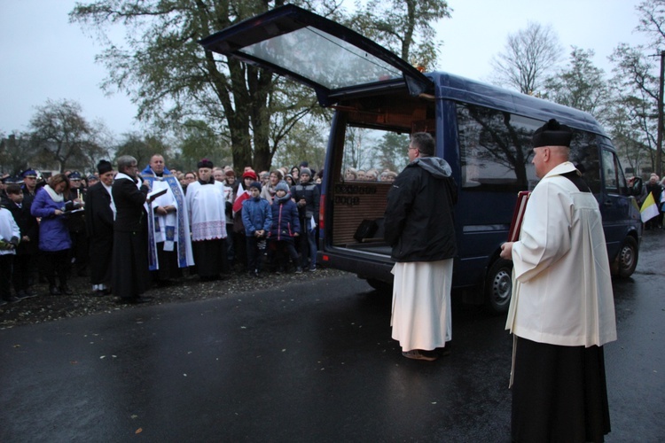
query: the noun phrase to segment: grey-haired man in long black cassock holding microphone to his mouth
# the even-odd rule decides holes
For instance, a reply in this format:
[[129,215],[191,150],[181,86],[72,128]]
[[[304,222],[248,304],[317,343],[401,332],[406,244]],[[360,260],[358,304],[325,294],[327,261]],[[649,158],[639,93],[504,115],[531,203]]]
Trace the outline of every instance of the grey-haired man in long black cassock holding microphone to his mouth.
[[148,183],[137,178],[137,159],[123,155],[118,159],[118,174],[113,181],[113,293],[123,303],[145,303],[141,297],[150,286],[145,199]]

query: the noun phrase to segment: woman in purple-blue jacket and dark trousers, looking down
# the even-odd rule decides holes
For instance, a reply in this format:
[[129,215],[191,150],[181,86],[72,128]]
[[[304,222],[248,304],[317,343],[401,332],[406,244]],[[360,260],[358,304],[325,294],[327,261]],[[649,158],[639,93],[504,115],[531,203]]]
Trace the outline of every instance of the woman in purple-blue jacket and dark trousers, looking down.
[[[51,295],[72,294],[66,282],[69,250],[72,247],[66,226],[66,211],[72,209],[74,203],[65,201],[68,193],[69,179],[66,175],[53,175],[49,184],[37,192],[30,209],[33,216],[42,219],[39,223],[39,250]],[[59,287],[56,286],[56,275]]]

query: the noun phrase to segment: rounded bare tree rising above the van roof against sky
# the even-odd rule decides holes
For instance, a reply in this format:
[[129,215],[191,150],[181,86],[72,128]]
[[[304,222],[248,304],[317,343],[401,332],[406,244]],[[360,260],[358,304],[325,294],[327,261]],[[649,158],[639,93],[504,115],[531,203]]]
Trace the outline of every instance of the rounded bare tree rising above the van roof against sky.
[[492,59],[495,82],[523,94],[540,93],[548,72],[559,63],[562,51],[552,27],[529,22],[526,29],[508,35],[504,51]]

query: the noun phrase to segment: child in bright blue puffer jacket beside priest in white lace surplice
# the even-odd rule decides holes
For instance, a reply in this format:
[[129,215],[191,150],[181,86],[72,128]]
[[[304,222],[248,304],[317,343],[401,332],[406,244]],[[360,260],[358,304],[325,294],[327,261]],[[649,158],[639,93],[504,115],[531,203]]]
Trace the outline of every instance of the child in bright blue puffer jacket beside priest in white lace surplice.
[[247,242],[247,271],[249,276],[261,276],[265,239],[272,225],[268,200],[261,198],[261,183],[249,185],[250,197],[242,202],[242,222]]

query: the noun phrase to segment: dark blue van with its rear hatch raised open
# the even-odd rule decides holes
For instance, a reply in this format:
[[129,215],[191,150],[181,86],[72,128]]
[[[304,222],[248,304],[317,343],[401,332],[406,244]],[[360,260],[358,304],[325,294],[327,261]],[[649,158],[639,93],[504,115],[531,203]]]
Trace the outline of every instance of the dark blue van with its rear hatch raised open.
[[[458,257],[453,287],[465,301],[508,308],[510,261],[499,258],[520,190],[532,190],[531,135],[556,118],[574,128],[571,161],[599,201],[616,276],[638,263],[642,222],[611,140],[588,113],[456,75],[424,74],[362,35],[293,5],[266,12],[200,42],[308,85],[335,109],[325,158],[319,217],[320,266],[343,269],[377,289],[392,284],[390,247],[382,238],[387,181],[346,174],[377,146],[426,131],[459,187]],[[639,181],[638,181],[639,182]],[[435,204],[433,202],[433,204]]]

